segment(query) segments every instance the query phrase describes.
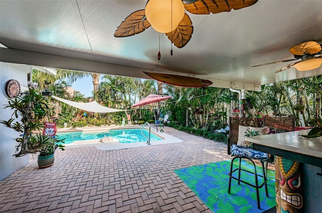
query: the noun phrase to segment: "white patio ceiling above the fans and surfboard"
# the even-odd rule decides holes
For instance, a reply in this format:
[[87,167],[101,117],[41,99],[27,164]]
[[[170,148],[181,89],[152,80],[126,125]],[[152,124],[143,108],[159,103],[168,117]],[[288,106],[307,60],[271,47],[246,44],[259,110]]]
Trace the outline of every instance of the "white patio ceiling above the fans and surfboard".
[[321,75],[290,68],[288,49],[315,40],[322,43],[322,0],[259,0],[255,5],[219,14],[194,15],[194,32],[179,49],[151,27],[125,38],[114,37],[120,23],[144,9],[144,0],[0,1],[0,60],[148,78],[144,72],[209,79],[214,87],[258,90],[259,85]]

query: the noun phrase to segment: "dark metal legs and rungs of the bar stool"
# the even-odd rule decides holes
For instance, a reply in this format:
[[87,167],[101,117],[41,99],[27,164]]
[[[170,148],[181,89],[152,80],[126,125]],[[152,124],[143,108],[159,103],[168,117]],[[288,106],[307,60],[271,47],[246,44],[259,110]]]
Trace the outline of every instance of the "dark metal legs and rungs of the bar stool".
[[[236,169],[233,169],[233,163],[234,163],[234,160],[236,159],[239,159],[239,165],[238,165],[238,168]],[[249,160],[253,166],[254,166],[254,172],[252,171],[248,171],[248,170],[245,170],[243,168],[241,168],[241,159],[247,159]],[[249,186],[252,186],[252,187],[255,187],[256,189],[256,197],[257,197],[257,207],[260,209],[261,208],[261,205],[260,205],[260,195],[259,195],[259,189],[262,188],[263,186],[265,186],[265,193],[266,193],[266,196],[268,197],[268,190],[267,190],[267,171],[265,172],[266,168],[267,168],[267,162],[266,162],[266,167],[264,165],[264,162],[261,161],[261,164],[262,164],[262,171],[263,171],[263,174],[260,175],[260,174],[257,174],[257,169],[256,169],[256,165],[254,163],[254,161],[250,158],[246,158],[246,157],[234,157],[232,160],[231,160],[231,163],[230,163],[230,171],[228,173],[229,175],[229,185],[228,185],[228,193],[230,194],[230,188],[231,188],[231,179],[235,179],[238,181],[238,185],[240,184],[240,182],[242,183],[245,183]],[[234,173],[235,171],[238,171],[238,178],[237,177],[234,177],[232,176],[232,173]],[[245,171],[245,172],[248,172],[248,173],[251,173],[251,174],[254,174],[254,178],[255,178],[255,185],[253,185],[252,183],[248,183],[244,180],[241,180],[240,179],[240,172],[241,171]],[[258,181],[258,176],[260,177],[263,177],[263,182],[259,185],[259,181]]]

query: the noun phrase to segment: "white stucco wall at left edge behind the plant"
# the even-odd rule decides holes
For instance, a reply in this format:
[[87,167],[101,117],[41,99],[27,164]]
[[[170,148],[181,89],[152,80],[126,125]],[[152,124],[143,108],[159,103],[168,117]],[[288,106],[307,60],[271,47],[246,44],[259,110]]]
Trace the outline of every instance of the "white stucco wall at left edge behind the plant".
[[[8,120],[12,111],[4,109],[7,104],[5,85],[7,81],[17,80],[21,86],[27,87],[27,74],[30,73],[30,66],[0,62],[0,119]],[[18,143],[13,139],[19,136],[19,132],[6,127],[0,123],[0,180],[20,169],[29,162],[29,155],[14,157]]]

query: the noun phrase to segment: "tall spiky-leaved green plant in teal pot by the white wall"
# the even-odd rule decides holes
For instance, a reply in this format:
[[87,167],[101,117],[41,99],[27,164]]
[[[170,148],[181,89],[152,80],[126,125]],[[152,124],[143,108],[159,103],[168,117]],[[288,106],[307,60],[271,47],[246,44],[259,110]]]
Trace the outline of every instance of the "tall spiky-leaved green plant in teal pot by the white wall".
[[[37,152],[40,152],[39,157],[53,156],[57,148],[63,150],[63,145],[61,145],[63,139],[40,133],[44,128],[44,119],[50,115],[50,109],[47,97],[43,96],[36,87],[36,84],[29,83],[27,92],[14,99],[9,99],[8,103],[4,105],[4,108],[13,110],[13,114],[9,120],[0,120],[0,123],[20,133],[18,137],[14,138],[19,143],[16,147],[16,151],[19,153],[14,155],[16,157]],[[17,121],[19,116],[22,118]]]

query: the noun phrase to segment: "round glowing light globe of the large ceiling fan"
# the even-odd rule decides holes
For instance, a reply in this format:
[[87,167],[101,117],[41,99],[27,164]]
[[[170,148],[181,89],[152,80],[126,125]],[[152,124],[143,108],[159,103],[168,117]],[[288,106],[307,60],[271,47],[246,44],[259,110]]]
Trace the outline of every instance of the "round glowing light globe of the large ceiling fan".
[[181,0],[149,0],[145,6],[147,21],[159,33],[175,30],[184,15],[185,7]]

